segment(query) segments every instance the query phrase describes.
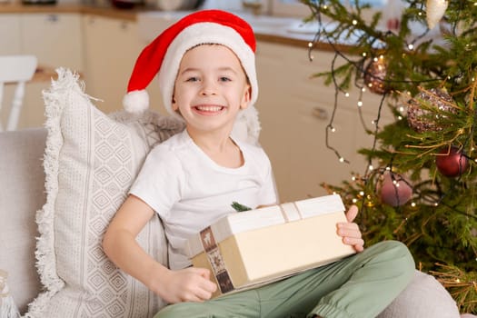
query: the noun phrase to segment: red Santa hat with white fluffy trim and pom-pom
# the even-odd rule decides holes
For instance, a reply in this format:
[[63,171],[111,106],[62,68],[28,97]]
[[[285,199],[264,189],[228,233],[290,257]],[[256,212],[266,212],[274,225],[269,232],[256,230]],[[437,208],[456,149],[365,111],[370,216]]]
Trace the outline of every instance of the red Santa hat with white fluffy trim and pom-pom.
[[[253,108],[258,96],[253,29],[236,15],[220,10],[204,10],[186,15],[144,48],[129,79],[127,94],[123,100],[125,110],[130,113],[141,113],[148,108],[149,95],[145,88],[154,76],[158,75],[165,109],[174,114],[172,109],[174,82],[182,57],[187,50],[203,44],[224,45],[234,51],[252,86],[249,108]],[[253,113],[252,116],[256,116],[254,112],[254,108],[248,111]]]

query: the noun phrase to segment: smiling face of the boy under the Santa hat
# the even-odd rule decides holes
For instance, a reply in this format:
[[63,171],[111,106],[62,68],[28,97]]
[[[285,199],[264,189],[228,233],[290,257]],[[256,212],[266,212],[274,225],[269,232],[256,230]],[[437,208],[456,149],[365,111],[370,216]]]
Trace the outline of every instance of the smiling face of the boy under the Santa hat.
[[173,109],[188,129],[230,133],[236,114],[248,106],[251,88],[234,52],[224,45],[187,51],[174,84]]

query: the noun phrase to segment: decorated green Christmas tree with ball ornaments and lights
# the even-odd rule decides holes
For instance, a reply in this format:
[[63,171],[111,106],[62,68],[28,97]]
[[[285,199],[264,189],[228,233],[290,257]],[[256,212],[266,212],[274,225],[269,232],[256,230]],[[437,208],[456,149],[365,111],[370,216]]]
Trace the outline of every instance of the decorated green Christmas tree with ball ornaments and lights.
[[[363,128],[374,136],[359,150],[367,167],[323,186],[360,207],[368,244],[406,243],[462,312],[477,313],[477,0],[389,0],[392,15],[358,0],[303,3],[319,23],[314,43],[336,56],[315,76],[336,96],[383,96]],[[384,107],[392,124],[380,123]]]

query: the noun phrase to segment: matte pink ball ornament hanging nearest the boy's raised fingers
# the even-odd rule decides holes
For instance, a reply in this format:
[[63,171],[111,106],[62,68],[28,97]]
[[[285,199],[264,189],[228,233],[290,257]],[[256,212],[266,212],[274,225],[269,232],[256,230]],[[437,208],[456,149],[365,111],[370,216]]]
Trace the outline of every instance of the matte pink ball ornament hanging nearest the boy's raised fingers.
[[406,204],[412,197],[409,181],[399,174],[383,174],[381,182],[381,201],[391,206]]

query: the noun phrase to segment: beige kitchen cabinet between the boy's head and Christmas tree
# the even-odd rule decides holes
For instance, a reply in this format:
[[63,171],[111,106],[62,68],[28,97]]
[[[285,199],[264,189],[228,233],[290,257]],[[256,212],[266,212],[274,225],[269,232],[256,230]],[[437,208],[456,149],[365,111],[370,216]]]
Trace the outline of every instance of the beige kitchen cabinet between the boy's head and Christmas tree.
[[[340,162],[326,147],[334,90],[322,79],[310,76],[329,70],[334,54],[315,51],[313,55],[310,62],[305,45],[257,44],[260,142],[272,161],[283,202],[325,194],[321,183],[336,185],[350,180],[352,172],[363,173],[366,163],[356,151],[373,144],[373,137],[364,132],[361,124],[357,90],[352,90],[350,97],[340,95],[333,120],[335,132],[329,133],[329,144],[350,164]],[[364,93],[363,118],[369,126],[380,99],[380,95]],[[391,114],[383,113],[382,124],[391,120]]]

